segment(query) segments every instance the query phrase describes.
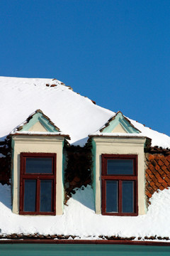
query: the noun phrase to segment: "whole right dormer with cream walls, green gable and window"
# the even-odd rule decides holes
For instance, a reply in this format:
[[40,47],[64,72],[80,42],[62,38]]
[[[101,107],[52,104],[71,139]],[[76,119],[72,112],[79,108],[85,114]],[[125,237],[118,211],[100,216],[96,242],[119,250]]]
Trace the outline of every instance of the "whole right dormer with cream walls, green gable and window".
[[145,201],[145,144],[142,136],[121,112],[90,134],[94,156],[96,213],[142,215]]

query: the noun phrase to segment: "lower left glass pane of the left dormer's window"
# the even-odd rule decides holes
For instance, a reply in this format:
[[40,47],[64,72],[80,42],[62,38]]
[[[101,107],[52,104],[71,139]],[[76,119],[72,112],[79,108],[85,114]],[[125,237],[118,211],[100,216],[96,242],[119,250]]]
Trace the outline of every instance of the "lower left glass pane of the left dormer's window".
[[35,211],[36,180],[25,180],[24,186],[24,211]]

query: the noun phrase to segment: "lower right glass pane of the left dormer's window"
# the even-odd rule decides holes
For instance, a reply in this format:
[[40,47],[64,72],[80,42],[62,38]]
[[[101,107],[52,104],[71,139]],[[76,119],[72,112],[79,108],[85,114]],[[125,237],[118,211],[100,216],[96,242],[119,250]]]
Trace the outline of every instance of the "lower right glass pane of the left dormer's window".
[[40,211],[52,211],[52,180],[40,181]]

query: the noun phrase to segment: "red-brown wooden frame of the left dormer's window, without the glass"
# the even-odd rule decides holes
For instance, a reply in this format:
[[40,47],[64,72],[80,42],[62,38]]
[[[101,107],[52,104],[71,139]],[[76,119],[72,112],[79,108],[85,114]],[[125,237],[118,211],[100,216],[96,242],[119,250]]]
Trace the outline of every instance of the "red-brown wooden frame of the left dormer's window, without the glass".
[[[52,174],[26,174],[26,158],[39,157],[39,158],[52,158]],[[56,162],[57,155],[55,153],[21,153],[20,154],[20,203],[19,214],[22,215],[55,215],[56,214]],[[35,211],[28,212],[23,210],[24,206],[24,190],[25,180],[36,180],[36,203]],[[52,180],[52,211],[40,212],[40,180]]]

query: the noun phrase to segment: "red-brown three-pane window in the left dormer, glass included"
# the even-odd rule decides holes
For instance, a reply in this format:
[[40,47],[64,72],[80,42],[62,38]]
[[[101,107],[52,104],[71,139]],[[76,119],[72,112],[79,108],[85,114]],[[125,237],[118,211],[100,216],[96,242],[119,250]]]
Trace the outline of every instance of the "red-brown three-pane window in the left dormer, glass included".
[[21,153],[20,214],[55,215],[56,154]]

